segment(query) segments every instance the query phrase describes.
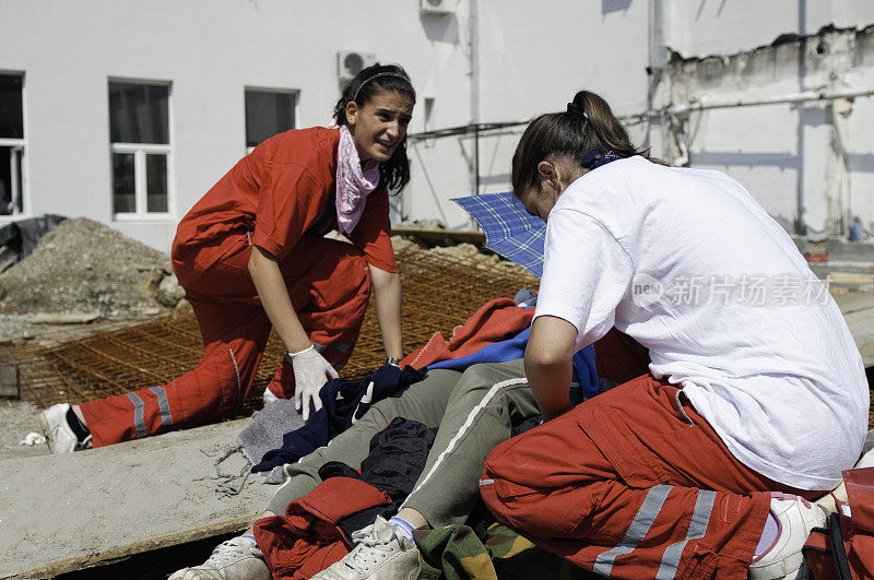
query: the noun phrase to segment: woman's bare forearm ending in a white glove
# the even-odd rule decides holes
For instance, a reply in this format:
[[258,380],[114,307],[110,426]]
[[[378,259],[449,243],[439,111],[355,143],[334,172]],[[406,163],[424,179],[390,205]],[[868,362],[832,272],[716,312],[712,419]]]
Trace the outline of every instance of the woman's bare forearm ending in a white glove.
[[261,298],[261,306],[285,348],[292,353],[308,348],[309,336],[300,325],[275,259],[256,246],[249,260],[249,273]]

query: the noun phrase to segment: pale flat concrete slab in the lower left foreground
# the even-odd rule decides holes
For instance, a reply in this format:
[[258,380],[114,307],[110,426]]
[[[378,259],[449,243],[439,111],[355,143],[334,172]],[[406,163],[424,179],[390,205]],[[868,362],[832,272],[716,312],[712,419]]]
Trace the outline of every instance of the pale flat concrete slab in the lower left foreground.
[[[0,463],[0,578],[47,578],[247,528],[275,486],[250,476],[226,497],[214,462],[250,419],[69,455]],[[213,457],[209,457],[213,455]],[[222,463],[239,473],[237,453]]]

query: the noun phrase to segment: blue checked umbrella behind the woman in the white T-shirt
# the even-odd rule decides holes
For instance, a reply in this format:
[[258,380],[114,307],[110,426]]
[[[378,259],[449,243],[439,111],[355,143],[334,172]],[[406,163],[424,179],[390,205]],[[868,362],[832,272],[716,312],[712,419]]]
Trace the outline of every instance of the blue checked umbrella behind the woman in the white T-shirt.
[[453,199],[485,233],[485,247],[516,262],[535,276],[543,275],[546,224],[529,215],[511,191]]

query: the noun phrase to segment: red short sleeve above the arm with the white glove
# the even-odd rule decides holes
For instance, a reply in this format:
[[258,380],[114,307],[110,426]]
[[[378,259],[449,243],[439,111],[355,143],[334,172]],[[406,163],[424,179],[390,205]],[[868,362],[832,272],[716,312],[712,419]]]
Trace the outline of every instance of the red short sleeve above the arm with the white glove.
[[318,220],[329,188],[305,166],[271,156],[261,171],[252,244],[283,259]]

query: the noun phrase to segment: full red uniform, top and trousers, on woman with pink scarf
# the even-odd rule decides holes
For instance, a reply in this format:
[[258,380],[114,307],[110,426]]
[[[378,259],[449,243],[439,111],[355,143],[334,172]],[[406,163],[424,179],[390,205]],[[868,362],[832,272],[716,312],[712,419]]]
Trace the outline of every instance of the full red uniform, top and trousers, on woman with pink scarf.
[[[173,268],[198,319],[204,356],[167,384],[83,403],[95,447],[215,421],[246,399],[271,329],[248,271],[252,246],[279,261],[322,356],[336,368],[349,360],[369,297],[367,265],[398,267],[385,187],[368,196],[352,245],[322,237],[336,227],[339,140],[335,129],[312,128],[265,141],[182,218]],[[294,393],[287,362],[270,390]]]

